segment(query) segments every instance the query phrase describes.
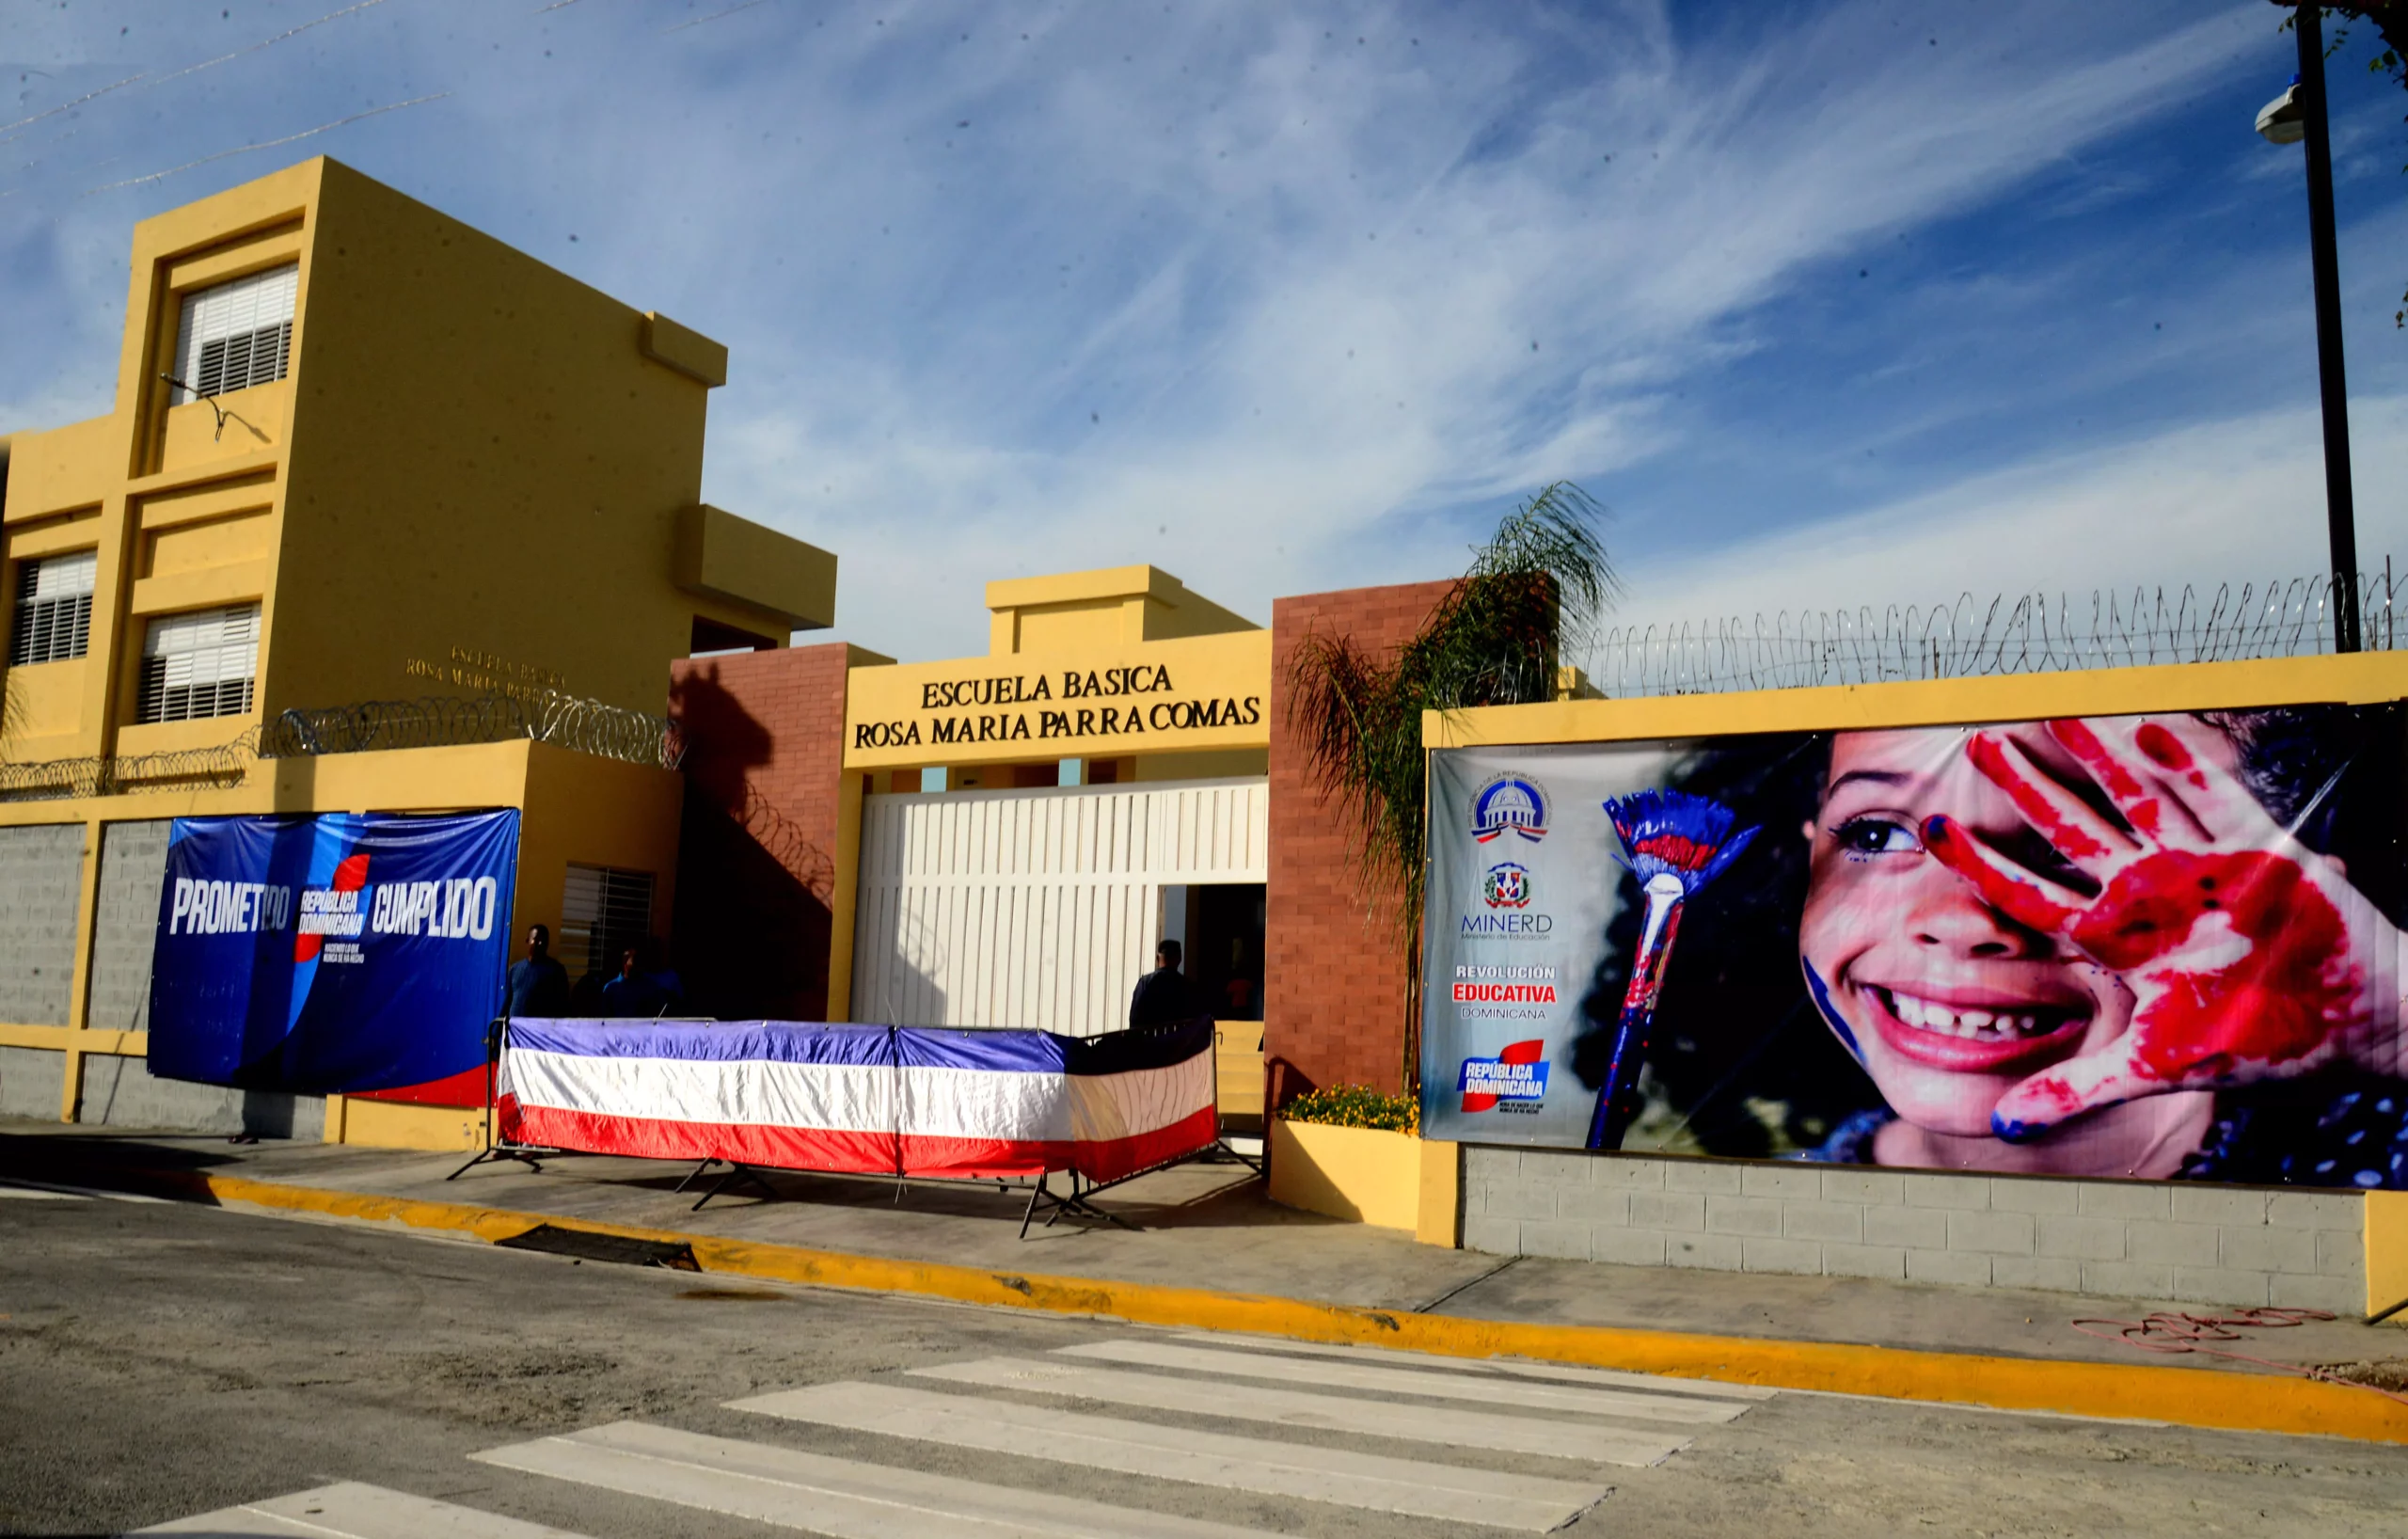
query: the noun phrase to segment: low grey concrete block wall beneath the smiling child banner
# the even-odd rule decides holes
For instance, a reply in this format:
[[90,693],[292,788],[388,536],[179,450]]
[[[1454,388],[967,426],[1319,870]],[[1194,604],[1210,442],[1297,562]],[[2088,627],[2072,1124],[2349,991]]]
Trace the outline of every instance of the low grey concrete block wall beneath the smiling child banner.
[[2107,1298],[2367,1303],[2357,1192],[1464,1146],[1464,1250]]

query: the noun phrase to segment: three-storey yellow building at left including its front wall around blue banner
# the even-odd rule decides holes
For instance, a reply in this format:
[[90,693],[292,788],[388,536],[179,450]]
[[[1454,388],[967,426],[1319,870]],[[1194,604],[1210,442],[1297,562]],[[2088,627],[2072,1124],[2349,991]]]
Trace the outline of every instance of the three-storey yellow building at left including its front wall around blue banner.
[[0,1110],[462,1137],[149,1079],[169,819],[515,807],[520,930],[667,930],[669,660],[836,607],[833,554],[701,503],[725,378],[337,161],[135,226],[111,412],[0,438]]

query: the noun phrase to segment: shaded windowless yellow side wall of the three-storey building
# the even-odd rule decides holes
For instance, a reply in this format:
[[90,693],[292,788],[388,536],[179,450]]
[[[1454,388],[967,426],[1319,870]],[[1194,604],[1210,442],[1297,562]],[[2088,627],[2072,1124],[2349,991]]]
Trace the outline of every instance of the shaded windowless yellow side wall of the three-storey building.
[[315,645],[272,653],[267,703],[498,679],[662,710],[694,614],[749,619],[669,583],[706,385],[643,356],[641,311],[318,166],[277,590]]

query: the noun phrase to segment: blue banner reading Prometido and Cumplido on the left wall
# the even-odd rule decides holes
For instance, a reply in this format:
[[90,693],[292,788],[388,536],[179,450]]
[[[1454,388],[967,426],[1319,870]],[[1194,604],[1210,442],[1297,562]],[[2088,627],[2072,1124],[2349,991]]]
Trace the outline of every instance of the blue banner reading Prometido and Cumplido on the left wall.
[[176,819],[152,1074],[327,1096],[479,1067],[515,877],[518,812]]

